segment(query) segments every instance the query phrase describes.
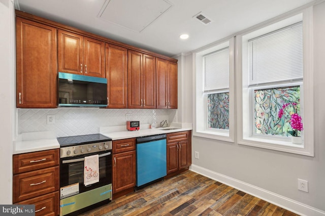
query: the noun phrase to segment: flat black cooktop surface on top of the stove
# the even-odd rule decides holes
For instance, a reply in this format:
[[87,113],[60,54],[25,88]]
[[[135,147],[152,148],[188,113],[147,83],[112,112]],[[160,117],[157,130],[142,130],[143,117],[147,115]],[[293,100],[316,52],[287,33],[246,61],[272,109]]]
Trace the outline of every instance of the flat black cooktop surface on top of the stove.
[[111,141],[111,140],[112,140],[111,138],[105,137],[104,135],[101,135],[101,134],[89,134],[89,135],[57,138],[57,141],[59,142],[60,147],[107,142],[107,141]]

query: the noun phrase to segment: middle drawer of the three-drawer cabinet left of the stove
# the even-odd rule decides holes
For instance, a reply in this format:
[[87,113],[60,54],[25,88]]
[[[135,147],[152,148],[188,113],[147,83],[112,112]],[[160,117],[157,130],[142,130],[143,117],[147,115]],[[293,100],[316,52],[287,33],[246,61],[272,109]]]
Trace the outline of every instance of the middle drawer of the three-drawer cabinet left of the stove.
[[13,202],[59,190],[59,166],[14,175]]

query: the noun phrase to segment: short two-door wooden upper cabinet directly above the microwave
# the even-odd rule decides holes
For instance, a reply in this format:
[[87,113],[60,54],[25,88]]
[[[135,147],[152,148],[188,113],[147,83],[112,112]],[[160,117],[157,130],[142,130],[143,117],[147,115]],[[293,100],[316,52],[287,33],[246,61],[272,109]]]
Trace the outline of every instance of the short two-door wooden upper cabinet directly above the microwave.
[[59,29],[58,71],[105,77],[105,43]]

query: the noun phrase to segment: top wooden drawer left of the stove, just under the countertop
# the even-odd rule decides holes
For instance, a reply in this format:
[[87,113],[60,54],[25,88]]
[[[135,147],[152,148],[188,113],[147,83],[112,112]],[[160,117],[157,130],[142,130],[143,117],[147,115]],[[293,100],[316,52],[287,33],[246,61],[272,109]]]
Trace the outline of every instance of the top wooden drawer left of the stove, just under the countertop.
[[15,154],[13,156],[13,173],[43,169],[59,165],[59,149]]

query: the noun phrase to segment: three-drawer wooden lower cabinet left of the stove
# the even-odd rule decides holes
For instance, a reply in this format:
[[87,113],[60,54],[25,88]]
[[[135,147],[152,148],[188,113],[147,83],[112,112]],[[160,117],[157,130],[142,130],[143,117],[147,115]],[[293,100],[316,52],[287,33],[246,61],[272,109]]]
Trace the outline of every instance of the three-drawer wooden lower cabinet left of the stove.
[[59,149],[13,155],[13,203],[35,215],[59,214]]

